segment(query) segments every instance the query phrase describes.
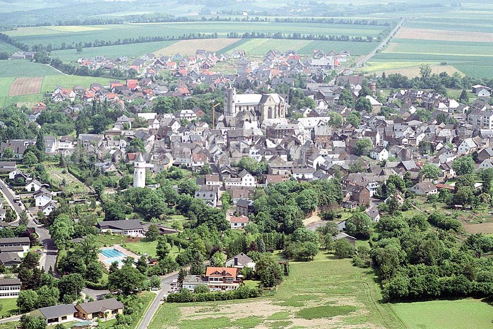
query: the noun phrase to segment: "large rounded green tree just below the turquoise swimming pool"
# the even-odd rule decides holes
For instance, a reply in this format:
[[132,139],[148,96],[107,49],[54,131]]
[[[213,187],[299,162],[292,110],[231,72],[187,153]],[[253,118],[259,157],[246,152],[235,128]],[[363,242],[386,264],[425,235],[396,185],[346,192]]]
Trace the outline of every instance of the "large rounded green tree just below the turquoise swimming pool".
[[145,288],[145,275],[132,266],[124,265],[108,276],[108,288],[124,295],[135,294]]

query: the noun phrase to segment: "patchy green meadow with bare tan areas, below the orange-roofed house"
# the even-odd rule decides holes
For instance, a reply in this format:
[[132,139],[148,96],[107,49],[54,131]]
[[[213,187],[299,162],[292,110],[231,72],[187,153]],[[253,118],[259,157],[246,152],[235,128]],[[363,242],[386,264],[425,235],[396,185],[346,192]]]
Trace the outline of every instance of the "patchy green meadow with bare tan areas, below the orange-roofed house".
[[314,262],[290,263],[290,275],[273,296],[164,303],[149,329],[404,328],[389,304],[379,303],[373,278],[371,270],[352,267],[350,260],[320,253]]

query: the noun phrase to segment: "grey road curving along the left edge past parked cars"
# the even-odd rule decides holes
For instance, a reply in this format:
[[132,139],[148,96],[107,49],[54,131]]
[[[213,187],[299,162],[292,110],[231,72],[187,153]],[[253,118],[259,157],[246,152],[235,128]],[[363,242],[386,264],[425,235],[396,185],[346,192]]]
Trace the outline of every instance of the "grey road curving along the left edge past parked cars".
[[[0,191],[3,196],[7,200],[7,203],[14,209],[17,214],[17,218],[20,218],[22,211],[24,211],[24,204],[19,206],[17,202],[15,202],[16,195],[15,193],[8,187],[7,184],[3,180],[0,179]],[[44,246],[45,254],[41,257],[40,266],[44,268],[45,272],[48,272],[50,267],[55,270],[55,265],[57,262],[58,250],[53,243],[53,239],[42,225],[39,225],[35,222],[33,216],[28,212],[28,227],[34,227],[36,234],[39,238],[39,242]]]

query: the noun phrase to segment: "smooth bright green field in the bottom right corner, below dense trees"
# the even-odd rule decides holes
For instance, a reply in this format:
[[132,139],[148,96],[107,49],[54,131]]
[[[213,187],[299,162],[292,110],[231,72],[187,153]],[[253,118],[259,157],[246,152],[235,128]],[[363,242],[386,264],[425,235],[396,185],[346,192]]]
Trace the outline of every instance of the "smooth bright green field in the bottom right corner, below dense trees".
[[493,307],[478,299],[397,303],[391,308],[408,329],[493,328]]

